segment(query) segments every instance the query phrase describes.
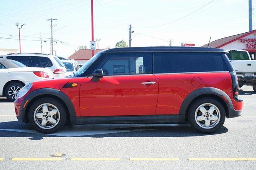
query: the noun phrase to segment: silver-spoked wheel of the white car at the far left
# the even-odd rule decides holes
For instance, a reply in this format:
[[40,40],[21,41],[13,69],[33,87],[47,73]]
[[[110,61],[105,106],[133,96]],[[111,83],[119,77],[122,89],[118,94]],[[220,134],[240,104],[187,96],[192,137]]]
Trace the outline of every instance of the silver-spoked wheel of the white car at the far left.
[[20,89],[24,86],[24,84],[19,82],[13,82],[6,86],[5,88],[5,96],[9,101],[14,101],[18,95]]

